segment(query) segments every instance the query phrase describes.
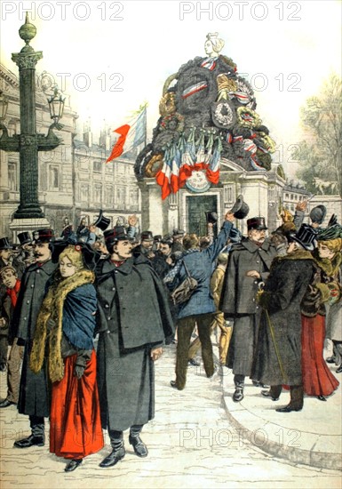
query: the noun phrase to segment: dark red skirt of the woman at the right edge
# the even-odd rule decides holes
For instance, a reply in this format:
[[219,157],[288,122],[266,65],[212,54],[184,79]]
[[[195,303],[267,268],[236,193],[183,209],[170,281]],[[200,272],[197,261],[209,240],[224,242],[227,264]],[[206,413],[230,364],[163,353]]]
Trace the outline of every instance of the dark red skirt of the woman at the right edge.
[[323,358],[325,317],[302,316],[302,373],[307,396],[330,396],[339,382]]

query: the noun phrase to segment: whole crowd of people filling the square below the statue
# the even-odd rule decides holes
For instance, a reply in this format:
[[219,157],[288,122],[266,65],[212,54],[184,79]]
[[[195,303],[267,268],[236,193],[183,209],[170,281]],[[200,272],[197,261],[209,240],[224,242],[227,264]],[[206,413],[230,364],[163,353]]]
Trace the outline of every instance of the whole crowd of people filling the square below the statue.
[[[247,236],[236,226],[245,213],[232,209],[220,228],[207,213],[207,236],[138,233],[135,215],[109,228],[99,212],[76,231],[64,220],[60,236],[43,228],[21,232],[20,244],[0,238],[0,408],[17,405],[31,429],[14,446],[44,446],[49,418],[50,452],[68,460],[66,471],[103,448],[102,429],[111,451],[100,467],[123,459],[127,429],[134,453],[146,457],[141,432],[155,415],[163,345],[177,343],[170,384],[182,390],[199,349],[206,376],[218,368],[216,329],[234,402],[246,377],[273,401],[290,389],[280,413],[300,411],[304,395],[326,401],[339,385],[327,362],[342,372],[342,226],[335,215],[322,226],[323,205],[309,223],[305,212],[305,202],[294,216],[282,212],[274,230],[263,216],[249,218]],[[327,339],[333,355],[324,359]]]

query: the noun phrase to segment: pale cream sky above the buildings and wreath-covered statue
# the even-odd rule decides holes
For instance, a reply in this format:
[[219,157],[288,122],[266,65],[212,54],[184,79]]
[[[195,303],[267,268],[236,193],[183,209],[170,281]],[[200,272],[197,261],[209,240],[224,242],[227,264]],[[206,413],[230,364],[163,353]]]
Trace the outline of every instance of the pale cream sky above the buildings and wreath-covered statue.
[[[122,0],[6,1],[1,8],[1,62],[13,73],[12,52],[28,10],[36,26],[31,45],[43,51],[36,71],[46,71],[70,96],[82,123],[99,132],[126,124],[147,101],[147,137],[158,119],[166,78],[204,56],[207,33],[225,41],[254,88],[258,115],[276,141],[274,161],[294,176],[293,145],[301,139],[299,109],[324,79],[342,74],[338,0],[179,2]],[[62,123],[62,121],[61,121]]]

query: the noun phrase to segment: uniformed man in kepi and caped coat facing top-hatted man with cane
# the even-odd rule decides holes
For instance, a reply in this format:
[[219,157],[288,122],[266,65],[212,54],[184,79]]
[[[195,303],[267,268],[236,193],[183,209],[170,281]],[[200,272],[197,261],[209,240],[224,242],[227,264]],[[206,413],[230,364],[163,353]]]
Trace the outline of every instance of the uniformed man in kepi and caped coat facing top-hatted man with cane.
[[[234,321],[227,366],[233,368],[233,400],[243,400],[245,376],[251,375],[252,358],[258,337],[258,284],[266,280],[276,255],[266,237],[266,221],[257,216],[247,220],[248,239],[235,244],[230,252],[219,309]],[[255,379],[258,381],[258,379]]]

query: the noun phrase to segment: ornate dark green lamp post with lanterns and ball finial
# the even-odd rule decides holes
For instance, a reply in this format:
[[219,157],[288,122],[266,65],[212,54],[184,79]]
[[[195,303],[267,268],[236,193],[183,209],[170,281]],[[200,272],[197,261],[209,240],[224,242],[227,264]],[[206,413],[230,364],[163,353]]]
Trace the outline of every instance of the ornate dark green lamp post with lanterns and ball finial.
[[64,99],[56,88],[51,99],[48,100],[53,124],[47,136],[37,134],[36,63],[43,58],[43,53],[35,52],[29,45],[31,39],[36,36],[36,27],[28,22],[28,13],[25,24],[20,27],[19,35],[26,45],[20,52],[12,54],[12,60],[19,67],[20,74],[20,134],[10,137],[7,128],[1,122],[6,116],[8,101],[0,93],[0,129],[3,131],[0,149],[20,153],[20,205],[14,212],[13,218],[32,220],[34,223],[36,219],[44,218],[44,212],[38,202],[38,151],[51,151],[60,145],[62,140],[52,132],[52,129],[62,128],[59,120],[63,114]]

